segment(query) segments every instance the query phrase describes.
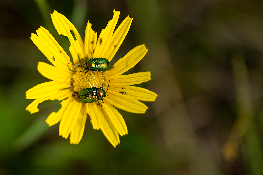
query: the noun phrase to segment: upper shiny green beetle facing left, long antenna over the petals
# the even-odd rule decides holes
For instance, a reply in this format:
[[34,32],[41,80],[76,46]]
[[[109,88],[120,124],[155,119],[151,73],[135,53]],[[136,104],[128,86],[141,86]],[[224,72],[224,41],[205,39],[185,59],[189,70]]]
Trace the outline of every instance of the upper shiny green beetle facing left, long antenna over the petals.
[[83,67],[85,75],[88,71],[91,71],[93,73],[93,71],[105,71],[109,69],[110,65],[109,65],[109,60],[107,58],[93,58],[91,51],[90,53],[91,53],[91,59],[87,63],[85,63],[84,66],[75,65],[75,64],[71,64],[71,65]]

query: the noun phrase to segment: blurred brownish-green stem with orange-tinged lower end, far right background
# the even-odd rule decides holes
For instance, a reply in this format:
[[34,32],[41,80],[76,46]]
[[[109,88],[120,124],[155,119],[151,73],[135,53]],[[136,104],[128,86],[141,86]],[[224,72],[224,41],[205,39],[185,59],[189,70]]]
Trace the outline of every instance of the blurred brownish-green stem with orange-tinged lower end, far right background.
[[243,56],[235,54],[232,59],[232,66],[236,91],[237,118],[232,127],[229,140],[222,148],[222,155],[229,162],[236,160],[240,142],[254,116],[247,67]]

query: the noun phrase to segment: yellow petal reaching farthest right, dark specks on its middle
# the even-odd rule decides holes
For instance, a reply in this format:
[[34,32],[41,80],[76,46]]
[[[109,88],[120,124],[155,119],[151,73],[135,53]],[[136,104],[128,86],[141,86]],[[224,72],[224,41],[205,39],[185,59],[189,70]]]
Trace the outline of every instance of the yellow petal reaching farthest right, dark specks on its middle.
[[[122,86],[122,87],[114,87],[113,85],[110,87],[110,90],[116,92],[125,92],[125,96],[132,97],[136,100],[152,102],[155,101],[157,94],[149,91],[148,89],[144,89],[136,86]],[[124,95],[124,94],[123,94]]]

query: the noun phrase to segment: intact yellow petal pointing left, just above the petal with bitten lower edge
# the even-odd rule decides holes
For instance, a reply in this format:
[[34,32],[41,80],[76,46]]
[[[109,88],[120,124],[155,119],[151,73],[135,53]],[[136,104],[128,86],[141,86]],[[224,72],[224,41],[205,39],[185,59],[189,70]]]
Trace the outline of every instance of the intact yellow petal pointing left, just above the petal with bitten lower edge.
[[[68,87],[69,87],[69,83],[67,82],[49,81],[49,82],[41,83],[27,90],[26,98],[37,99],[37,98],[49,97],[54,94],[60,93],[61,91],[67,89]],[[54,99],[50,99],[50,100],[54,100]]]

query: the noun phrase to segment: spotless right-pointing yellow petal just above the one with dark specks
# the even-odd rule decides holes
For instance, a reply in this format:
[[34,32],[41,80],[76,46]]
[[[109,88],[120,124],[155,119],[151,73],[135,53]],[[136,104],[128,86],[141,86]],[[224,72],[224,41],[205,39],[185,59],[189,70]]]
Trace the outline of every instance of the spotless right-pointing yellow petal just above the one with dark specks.
[[128,75],[120,75],[115,79],[110,79],[111,86],[127,86],[140,84],[151,79],[151,72],[138,72]]

